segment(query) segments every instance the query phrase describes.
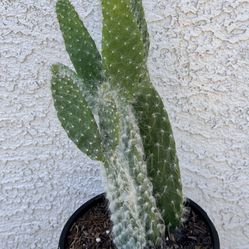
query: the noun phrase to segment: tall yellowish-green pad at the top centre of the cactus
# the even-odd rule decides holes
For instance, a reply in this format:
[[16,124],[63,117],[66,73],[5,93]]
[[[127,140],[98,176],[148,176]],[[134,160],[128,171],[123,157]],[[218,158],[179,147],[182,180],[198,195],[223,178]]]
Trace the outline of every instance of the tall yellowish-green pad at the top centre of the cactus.
[[141,32],[128,1],[103,0],[102,11],[105,72],[113,86],[132,98],[147,75]]

